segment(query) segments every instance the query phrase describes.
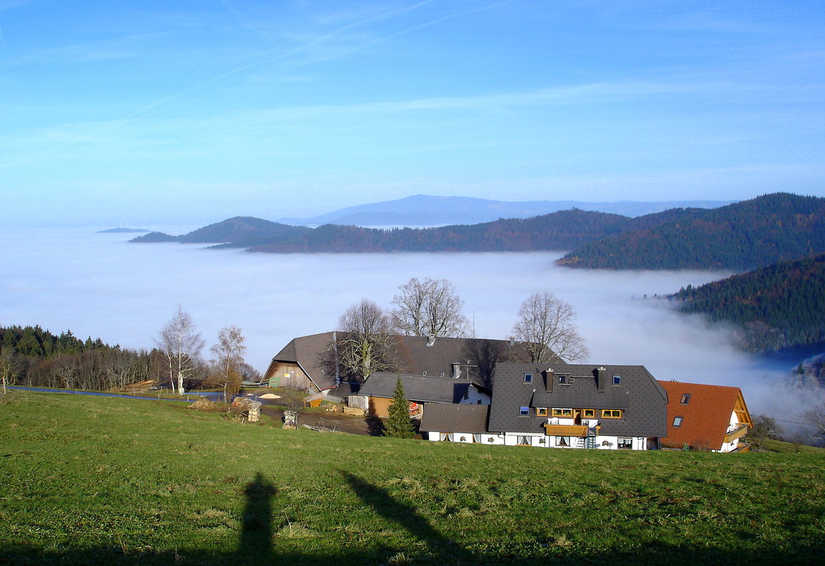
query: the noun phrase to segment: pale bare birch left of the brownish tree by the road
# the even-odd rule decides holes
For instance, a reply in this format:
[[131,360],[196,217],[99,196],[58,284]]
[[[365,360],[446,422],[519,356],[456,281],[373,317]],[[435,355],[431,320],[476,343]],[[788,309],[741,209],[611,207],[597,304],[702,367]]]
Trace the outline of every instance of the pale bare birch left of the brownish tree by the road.
[[200,350],[204,347],[200,333],[195,332],[191,315],[178,306],[177,313],[163,327],[156,342],[167,362],[172,393],[177,381],[177,392],[183,394],[183,382],[194,375]]

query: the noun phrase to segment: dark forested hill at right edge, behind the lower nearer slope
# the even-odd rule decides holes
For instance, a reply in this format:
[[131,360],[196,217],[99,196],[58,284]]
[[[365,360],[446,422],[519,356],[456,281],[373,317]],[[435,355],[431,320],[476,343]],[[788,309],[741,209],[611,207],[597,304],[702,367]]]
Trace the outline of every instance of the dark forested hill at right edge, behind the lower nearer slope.
[[601,238],[559,265],[747,271],[817,252],[825,252],[825,198],[776,193]]

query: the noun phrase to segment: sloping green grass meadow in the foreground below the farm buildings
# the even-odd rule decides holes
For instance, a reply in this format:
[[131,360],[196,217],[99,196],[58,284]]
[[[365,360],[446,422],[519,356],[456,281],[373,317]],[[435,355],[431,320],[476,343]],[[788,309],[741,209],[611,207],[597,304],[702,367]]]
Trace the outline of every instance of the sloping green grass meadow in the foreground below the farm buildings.
[[813,564],[825,457],[550,450],[0,399],[0,564]]

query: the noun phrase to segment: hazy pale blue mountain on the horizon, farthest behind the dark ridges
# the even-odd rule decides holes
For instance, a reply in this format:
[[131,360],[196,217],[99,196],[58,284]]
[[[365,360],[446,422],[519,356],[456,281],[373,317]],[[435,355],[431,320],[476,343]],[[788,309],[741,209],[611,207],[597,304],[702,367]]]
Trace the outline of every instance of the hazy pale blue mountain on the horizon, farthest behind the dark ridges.
[[622,216],[643,216],[672,208],[714,208],[730,200],[680,200],[672,202],[584,202],[579,200],[488,200],[469,196],[414,195],[367,205],[350,206],[312,218],[282,218],[281,224],[348,224],[353,226],[443,226],[481,224],[502,218],[530,218],[559,210],[592,210]]

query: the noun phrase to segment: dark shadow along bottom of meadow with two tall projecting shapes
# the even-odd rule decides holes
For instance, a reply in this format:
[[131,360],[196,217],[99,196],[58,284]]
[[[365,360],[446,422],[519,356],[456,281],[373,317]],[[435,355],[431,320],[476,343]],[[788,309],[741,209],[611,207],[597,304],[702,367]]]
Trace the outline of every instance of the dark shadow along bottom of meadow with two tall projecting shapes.
[[[401,526],[413,538],[426,545],[426,550],[415,545],[411,548],[395,548],[372,541],[369,548],[340,548],[328,553],[291,550],[276,552],[273,548],[273,534],[278,526],[273,521],[276,487],[262,474],[256,474],[252,482],[244,488],[244,507],[241,517],[241,532],[235,549],[225,553],[215,553],[205,549],[128,549],[125,545],[100,545],[97,548],[52,548],[43,549],[26,545],[7,545],[0,537],[0,564],[181,564],[192,566],[203,564],[215,566],[257,566],[263,564],[335,564],[347,566],[358,564],[433,564],[469,566],[471,564],[518,564],[518,566],[548,566],[582,564],[604,564],[605,566],[643,565],[665,566],[676,564],[817,564],[825,552],[823,540],[794,540],[778,545],[751,545],[745,549],[728,549],[707,546],[707,541],[685,540],[683,544],[663,543],[656,540],[640,544],[628,540],[628,549],[612,547],[592,550],[597,541],[587,545],[573,542],[556,544],[553,540],[538,540],[525,543],[525,533],[520,533],[521,542],[502,532],[497,540],[483,545],[482,550],[473,552],[450,540],[431,525],[416,507],[398,502],[390,493],[354,474],[339,470],[346,486],[385,521]],[[342,485],[342,488],[346,488]],[[342,510],[342,523],[347,521],[346,510]],[[180,530],[187,525],[177,527]],[[544,528],[555,530],[554,526]],[[559,535],[570,534],[571,527],[558,528]],[[375,536],[380,536],[375,531]],[[570,537],[573,538],[573,537]],[[738,533],[738,540],[752,539],[752,533]]]

